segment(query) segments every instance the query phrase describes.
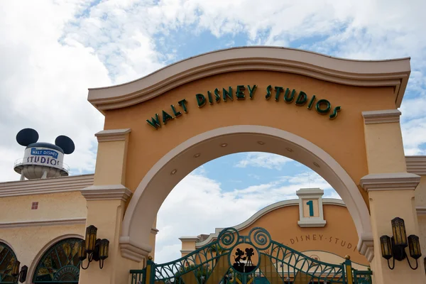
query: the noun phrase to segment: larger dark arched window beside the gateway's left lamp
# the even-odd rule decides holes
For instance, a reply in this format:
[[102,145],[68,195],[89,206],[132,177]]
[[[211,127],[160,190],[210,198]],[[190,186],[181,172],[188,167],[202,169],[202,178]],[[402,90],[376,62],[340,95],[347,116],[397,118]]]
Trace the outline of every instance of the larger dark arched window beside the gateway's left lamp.
[[70,238],[45,252],[34,271],[33,283],[78,283],[80,260],[78,244],[82,239]]

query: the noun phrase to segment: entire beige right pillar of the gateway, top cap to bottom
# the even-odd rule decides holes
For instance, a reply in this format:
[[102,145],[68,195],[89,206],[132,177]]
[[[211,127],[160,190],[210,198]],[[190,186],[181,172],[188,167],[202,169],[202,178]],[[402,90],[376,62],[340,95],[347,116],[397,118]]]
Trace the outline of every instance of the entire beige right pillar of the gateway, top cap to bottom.
[[[407,173],[403,139],[400,131],[400,111],[366,111],[364,133],[368,163],[368,175],[361,178],[360,185],[368,192],[371,226],[373,232],[374,258],[371,262],[373,280],[376,284],[426,283],[425,269],[419,259],[419,268],[412,270],[407,259],[395,261],[395,268],[381,256],[380,237],[392,236],[391,220],[400,217],[405,221],[407,236],[419,236],[415,210],[415,188],[420,182],[418,175]],[[415,260],[408,258],[415,266]],[[391,266],[392,266],[392,259]]]

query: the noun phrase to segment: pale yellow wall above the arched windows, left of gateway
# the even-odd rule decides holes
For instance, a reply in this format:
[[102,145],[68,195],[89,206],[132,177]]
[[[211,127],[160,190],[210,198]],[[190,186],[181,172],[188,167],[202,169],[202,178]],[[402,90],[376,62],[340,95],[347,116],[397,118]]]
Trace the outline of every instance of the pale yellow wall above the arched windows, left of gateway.
[[[31,209],[33,202],[38,202],[38,209]],[[80,191],[2,197],[0,241],[10,244],[21,267],[28,266],[28,273],[32,273],[38,261],[35,258],[43,255],[50,242],[65,236],[84,237],[86,216],[86,200]],[[53,221],[55,225],[46,225]],[[27,283],[32,278],[28,274]]]

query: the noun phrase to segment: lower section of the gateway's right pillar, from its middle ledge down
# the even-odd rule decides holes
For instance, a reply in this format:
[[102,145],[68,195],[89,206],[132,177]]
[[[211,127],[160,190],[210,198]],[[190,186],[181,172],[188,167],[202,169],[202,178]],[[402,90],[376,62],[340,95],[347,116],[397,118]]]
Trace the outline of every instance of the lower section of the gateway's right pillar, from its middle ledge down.
[[[422,258],[418,260],[420,263],[416,271],[411,270],[406,260],[395,261],[395,269],[391,270],[386,259],[381,256],[380,246],[381,236],[392,236],[391,220],[395,217],[404,219],[407,236],[420,236],[414,204],[414,192],[419,182],[420,176],[413,173],[381,173],[361,178],[360,185],[368,192],[370,201],[376,255],[371,266],[376,283],[426,283]],[[408,249],[406,251],[408,253]],[[410,261],[413,263],[414,259],[410,258]]]

